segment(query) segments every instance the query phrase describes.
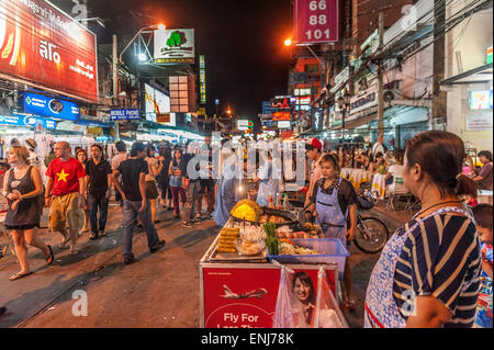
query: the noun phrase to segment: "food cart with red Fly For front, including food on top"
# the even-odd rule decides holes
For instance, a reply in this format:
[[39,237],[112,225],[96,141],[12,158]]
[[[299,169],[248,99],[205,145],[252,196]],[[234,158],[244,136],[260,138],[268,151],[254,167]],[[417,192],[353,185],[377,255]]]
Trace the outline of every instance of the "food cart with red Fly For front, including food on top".
[[348,250],[294,212],[239,201],[200,261],[200,326],[346,328]]

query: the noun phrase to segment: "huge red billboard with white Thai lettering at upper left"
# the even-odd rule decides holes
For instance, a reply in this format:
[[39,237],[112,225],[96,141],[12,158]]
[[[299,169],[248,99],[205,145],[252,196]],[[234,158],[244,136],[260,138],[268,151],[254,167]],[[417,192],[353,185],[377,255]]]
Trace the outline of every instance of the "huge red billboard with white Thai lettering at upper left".
[[0,77],[98,102],[96,35],[43,0],[0,0]]

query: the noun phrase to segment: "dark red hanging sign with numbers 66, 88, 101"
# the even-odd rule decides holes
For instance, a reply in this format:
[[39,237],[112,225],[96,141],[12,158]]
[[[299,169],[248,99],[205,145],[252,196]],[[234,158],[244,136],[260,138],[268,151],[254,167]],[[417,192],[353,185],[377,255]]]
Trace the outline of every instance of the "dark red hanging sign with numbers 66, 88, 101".
[[296,44],[336,43],[339,38],[339,0],[295,0]]

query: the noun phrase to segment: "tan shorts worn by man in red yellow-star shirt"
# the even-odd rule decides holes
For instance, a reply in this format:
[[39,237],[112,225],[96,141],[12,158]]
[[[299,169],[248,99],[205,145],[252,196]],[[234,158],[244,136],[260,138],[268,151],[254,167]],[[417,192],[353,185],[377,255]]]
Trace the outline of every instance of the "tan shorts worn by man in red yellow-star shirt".
[[66,224],[72,232],[79,232],[85,214],[79,207],[79,192],[54,196],[49,208],[48,227],[52,232],[65,232]]

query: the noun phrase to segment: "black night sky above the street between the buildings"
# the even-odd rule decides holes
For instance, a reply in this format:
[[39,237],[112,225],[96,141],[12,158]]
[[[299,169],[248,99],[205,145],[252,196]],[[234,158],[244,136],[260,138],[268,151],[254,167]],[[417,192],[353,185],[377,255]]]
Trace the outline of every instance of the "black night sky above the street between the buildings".
[[[110,33],[128,41],[143,25],[195,30],[195,56],[205,55],[207,114],[214,99],[238,116],[261,113],[261,102],[285,94],[292,29],[290,0],[88,0],[90,16],[106,19]],[[110,5],[114,4],[114,7]],[[131,13],[130,11],[133,11]],[[139,23],[141,22],[141,23]],[[101,37],[100,37],[101,36]]]

